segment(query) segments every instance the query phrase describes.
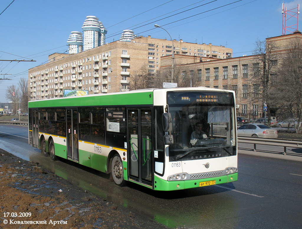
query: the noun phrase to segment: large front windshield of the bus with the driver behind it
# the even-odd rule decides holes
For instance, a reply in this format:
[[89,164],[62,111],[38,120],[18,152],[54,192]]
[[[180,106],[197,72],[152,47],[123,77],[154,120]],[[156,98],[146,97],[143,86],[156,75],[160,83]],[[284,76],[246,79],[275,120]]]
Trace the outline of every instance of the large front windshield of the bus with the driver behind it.
[[234,98],[230,92],[169,92],[174,144],[170,161],[236,155]]

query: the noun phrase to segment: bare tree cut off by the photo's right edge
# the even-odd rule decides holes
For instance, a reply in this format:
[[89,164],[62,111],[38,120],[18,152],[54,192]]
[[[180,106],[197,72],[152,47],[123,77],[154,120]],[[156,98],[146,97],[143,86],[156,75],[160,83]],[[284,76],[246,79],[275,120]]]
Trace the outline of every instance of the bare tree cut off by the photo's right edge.
[[281,63],[274,85],[279,107],[298,118],[296,133],[302,133],[302,43],[293,43]]

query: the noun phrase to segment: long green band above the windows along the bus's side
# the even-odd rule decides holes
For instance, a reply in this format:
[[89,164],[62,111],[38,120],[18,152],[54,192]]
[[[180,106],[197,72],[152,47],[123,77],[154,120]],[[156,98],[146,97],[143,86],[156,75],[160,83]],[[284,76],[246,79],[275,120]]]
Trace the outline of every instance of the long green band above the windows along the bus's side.
[[28,107],[81,107],[150,104],[153,104],[153,91],[128,94],[100,94],[99,96],[77,96],[59,99],[30,101],[28,102]]

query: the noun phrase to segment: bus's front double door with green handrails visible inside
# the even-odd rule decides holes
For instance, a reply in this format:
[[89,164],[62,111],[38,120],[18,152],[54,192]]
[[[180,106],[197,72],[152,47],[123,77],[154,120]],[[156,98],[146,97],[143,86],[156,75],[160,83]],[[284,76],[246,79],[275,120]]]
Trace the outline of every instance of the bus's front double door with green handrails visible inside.
[[128,109],[129,178],[152,184],[151,109]]

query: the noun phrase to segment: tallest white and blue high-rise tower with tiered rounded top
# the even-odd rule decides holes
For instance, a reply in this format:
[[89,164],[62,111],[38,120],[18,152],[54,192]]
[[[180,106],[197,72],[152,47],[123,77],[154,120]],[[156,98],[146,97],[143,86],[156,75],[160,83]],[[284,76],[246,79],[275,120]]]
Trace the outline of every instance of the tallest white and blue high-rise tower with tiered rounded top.
[[98,17],[87,16],[84,21],[82,30],[84,33],[84,48],[83,51],[93,49],[105,44],[105,34],[107,30],[103,24],[98,21]]

